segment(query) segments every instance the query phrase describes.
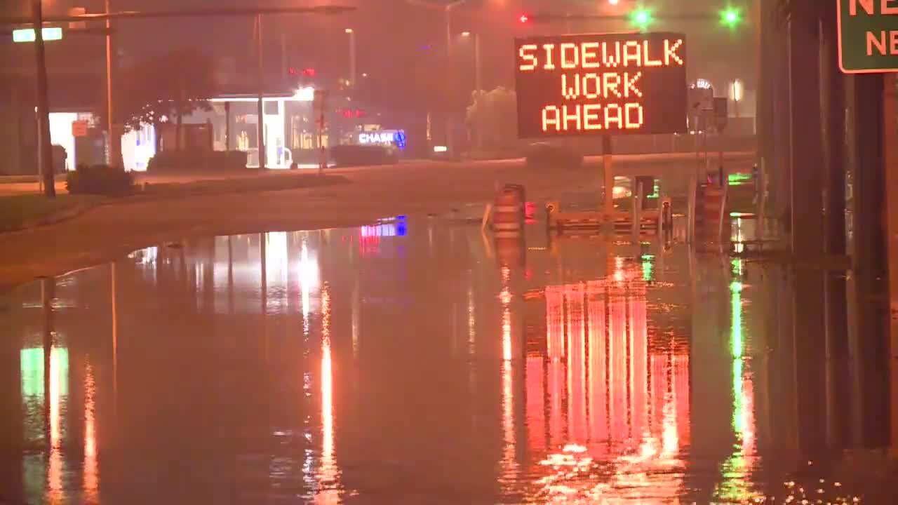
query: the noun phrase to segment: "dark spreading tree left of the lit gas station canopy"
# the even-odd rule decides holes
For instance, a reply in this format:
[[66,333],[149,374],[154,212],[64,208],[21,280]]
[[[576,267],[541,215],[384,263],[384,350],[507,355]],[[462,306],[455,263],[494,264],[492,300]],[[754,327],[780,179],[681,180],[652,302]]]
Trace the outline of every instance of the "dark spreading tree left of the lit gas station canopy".
[[[208,99],[217,93],[214,65],[197,49],[175,49],[147,58],[129,68],[122,82],[128,93],[119,93],[119,120],[128,130],[153,125],[156,131],[174,119],[175,148],[181,148],[185,115],[209,111]],[[160,136],[156,135],[156,150]]]

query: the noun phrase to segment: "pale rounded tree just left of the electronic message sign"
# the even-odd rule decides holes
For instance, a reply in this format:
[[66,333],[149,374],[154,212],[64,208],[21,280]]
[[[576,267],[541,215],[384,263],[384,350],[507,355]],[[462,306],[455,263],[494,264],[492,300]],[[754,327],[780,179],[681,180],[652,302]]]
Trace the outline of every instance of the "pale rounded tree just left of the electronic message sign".
[[515,92],[499,86],[490,92],[471,93],[467,119],[477,135],[480,147],[502,148],[514,145],[517,139]]

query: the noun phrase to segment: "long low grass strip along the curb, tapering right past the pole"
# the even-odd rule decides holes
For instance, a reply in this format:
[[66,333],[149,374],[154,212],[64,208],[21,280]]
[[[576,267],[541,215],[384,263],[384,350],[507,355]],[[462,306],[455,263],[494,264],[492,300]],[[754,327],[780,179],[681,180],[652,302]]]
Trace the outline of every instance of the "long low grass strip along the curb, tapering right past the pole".
[[135,192],[126,197],[58,194],[48,199],[39,194],[0,197],[0,233],[33,226],[57,223],[75,217],[87,208],[100,204],[127,204],[154,199],[178,199],[227,193],[253,191],[297,190],[335,184],[346,184],[342,175],[263,174],[259,177],[216,179],[193,182],[138,184]]

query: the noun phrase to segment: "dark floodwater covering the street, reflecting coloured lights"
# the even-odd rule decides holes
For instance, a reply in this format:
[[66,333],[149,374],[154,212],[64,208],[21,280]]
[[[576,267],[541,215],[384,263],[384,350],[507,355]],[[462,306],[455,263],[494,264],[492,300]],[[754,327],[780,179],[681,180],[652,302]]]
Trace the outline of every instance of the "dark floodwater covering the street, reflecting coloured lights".
[[885,338],[642,240],[411,216],[18,288],[0,503],[894,502]]

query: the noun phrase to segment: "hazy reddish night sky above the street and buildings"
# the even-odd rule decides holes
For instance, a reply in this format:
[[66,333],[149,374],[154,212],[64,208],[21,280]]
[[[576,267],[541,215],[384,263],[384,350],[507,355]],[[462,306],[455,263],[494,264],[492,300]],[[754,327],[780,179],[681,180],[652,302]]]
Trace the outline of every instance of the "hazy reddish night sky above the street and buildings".
[[[214,8],[246,6],[253,0],[112,0],[113,10],[174,10],[184,8]],[[22,0],[0,0],[9,7]],[[102,0],[44,0],[48,13],[66,13],[71,6],[80,5],[89,12],[101,12]],[[626,12],[628,2],[621,0],[617,9]],[[445,46],[445,17],[441,10],[411,6],[405,0],[255,0],[259,5],[312,5],[322,3],[354,5],[356,13],[339,16],[288,15],[268,16],[265,19],[266,68],[269,75],[277,75],[281,65],[281,35],[286,36],[286,53],[290,65],[315,67],[329,78],[348,76],[348,35],[351,27],[357,34],[358,73],[369,74],[367,84],[378,93],[405,93],[414,85],[414,75],[441,67]],[[752,0],[744,0],[746,5]],[[652,4],[649,2],[649,4]],[[715,13],[717,0],[658,0],[657,12],[688,9],[691,12]],[[566,7],[568,5],[569,7]],[[520,13],[597,13],[611,9],[603,0],[471,0],[453,13],[453,32],[475,31],[481,34],[481,54],[484,84],[511,85],[514,82],[513,64],[515,36],[550,34],[571,31],[625,31],[619,22],[574,22],[553,25],[521,25],[516,22]],[[690,76],[713,80],[744,79],[753,87],[754,27],[744,26],[731,33],[717,22],[691,22],[677,26],[658,22],[660,30],[682,30],[690,40]],[[233,58],[239,73],[254,72],[251,44],[252,21],[249,18],[188,18],[181,20],[141,20],[121,22],[119,49],[125,63],[140,58],[142,53],[194,46],[219,58]],[[82,42],[78,58],[89,58],[94,52],[102,57],[101,39]],[[431,49],[422,49],[426,47]],[[70,47],[75,47],[74,44]],[[471,80],[473,56],[470,40],[458,38],[454,46],[457,70],[462,80]],[[62,51],[63,49],[57,49]],[[465,58],[468,58],[465,61]],[[391,91],[395,90],[395,91]]]

